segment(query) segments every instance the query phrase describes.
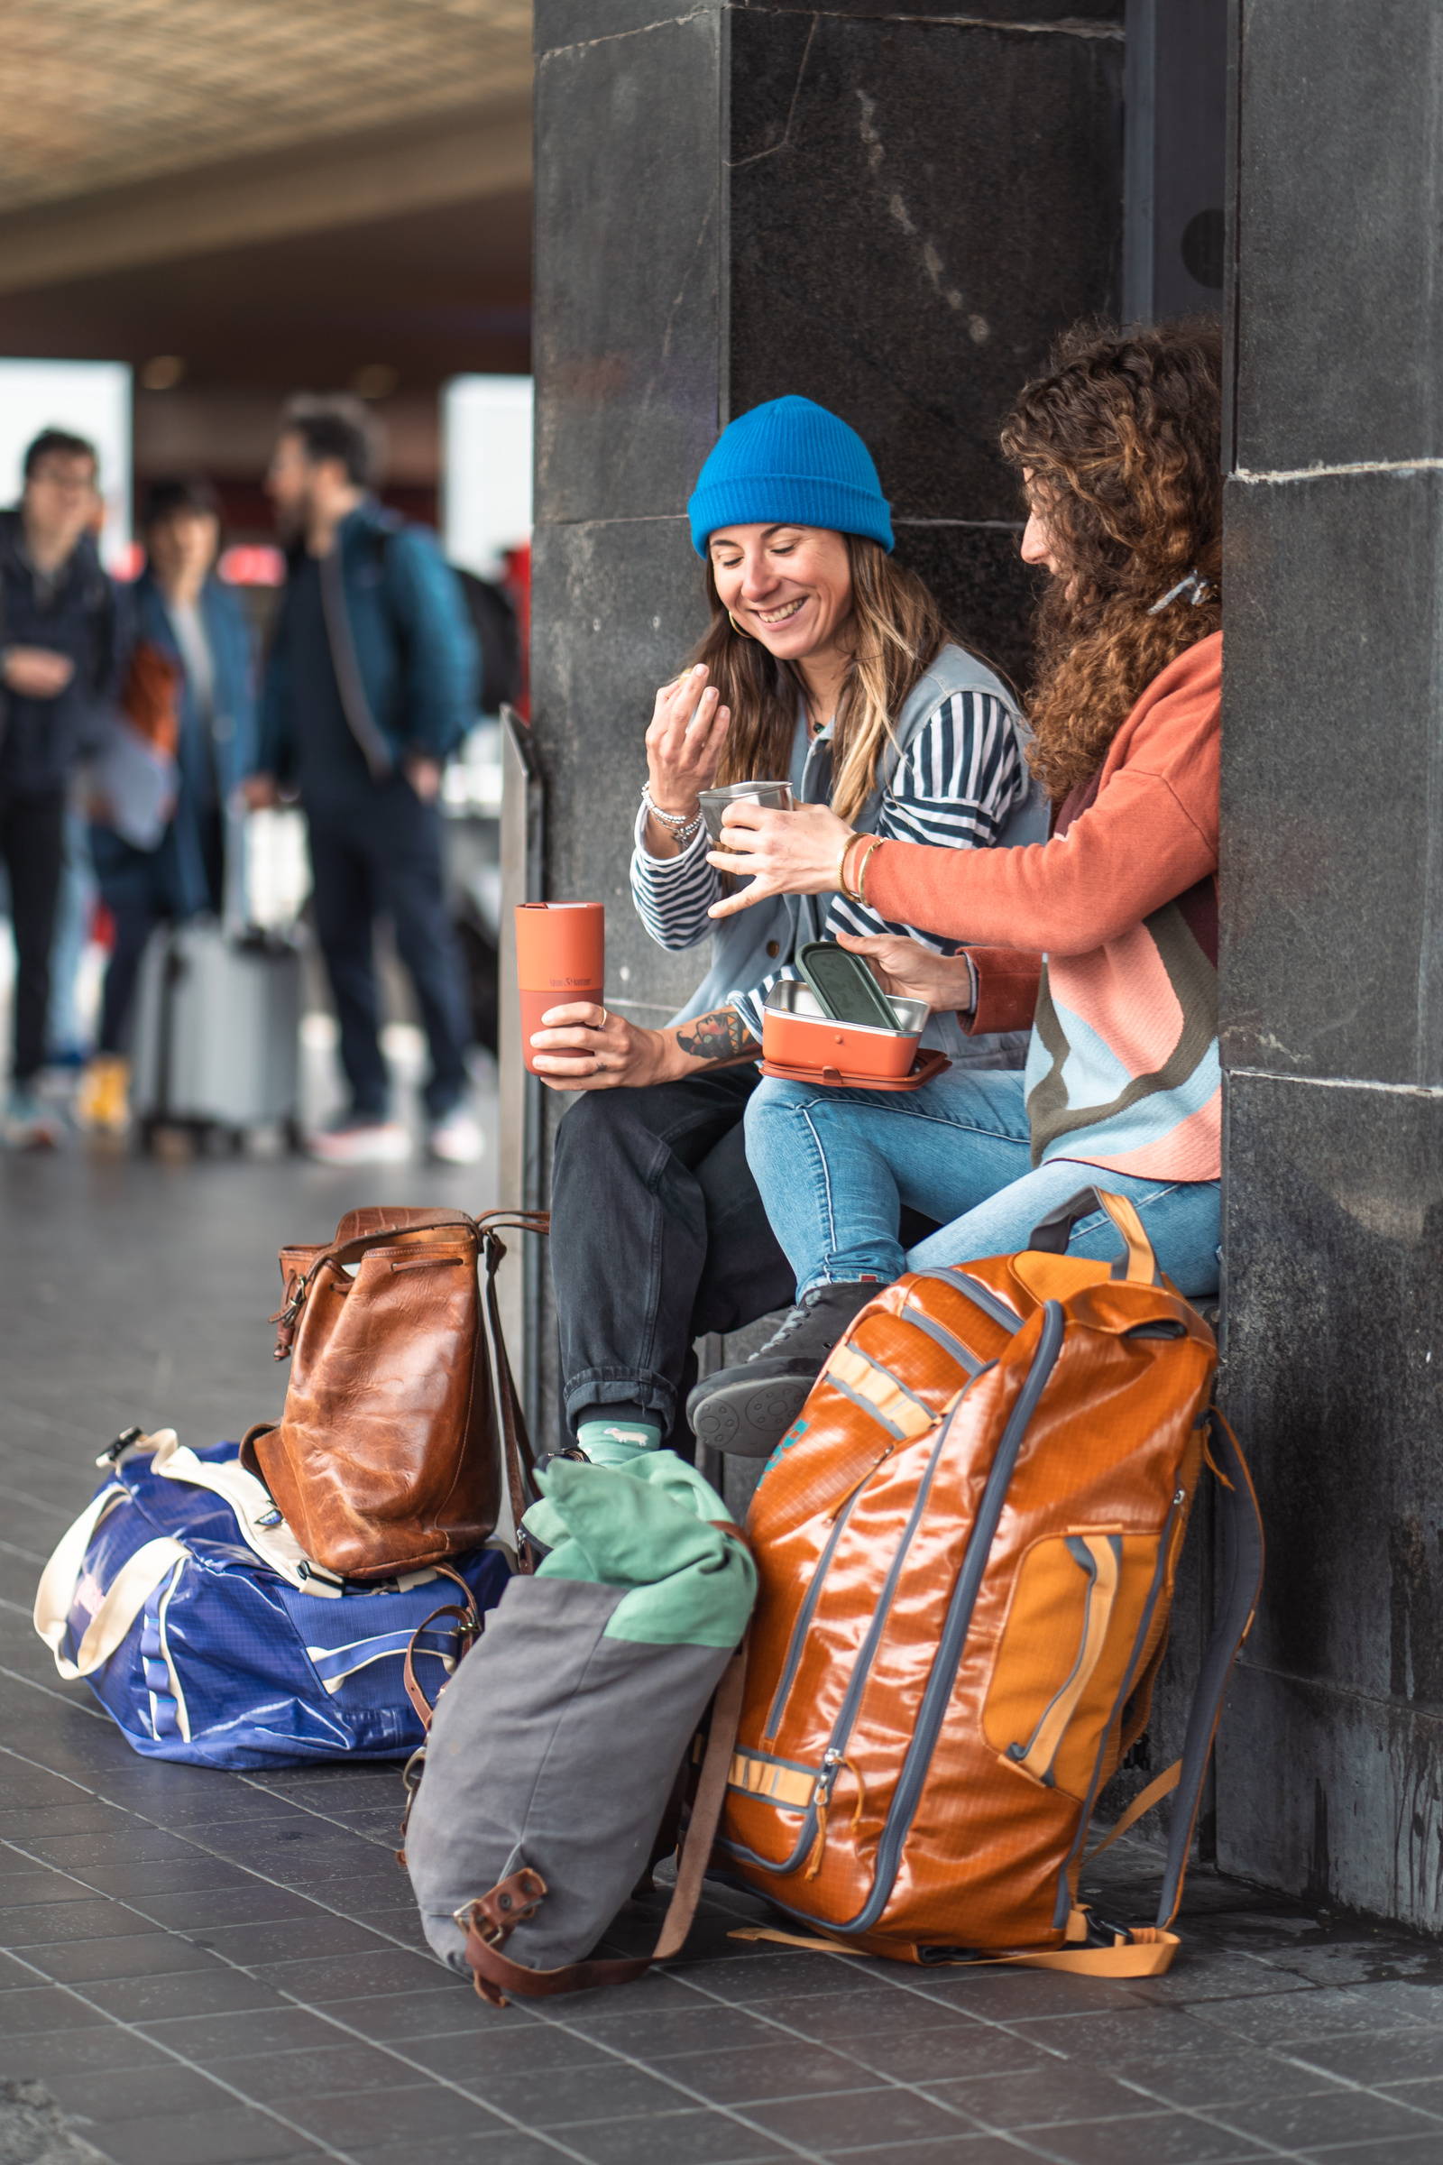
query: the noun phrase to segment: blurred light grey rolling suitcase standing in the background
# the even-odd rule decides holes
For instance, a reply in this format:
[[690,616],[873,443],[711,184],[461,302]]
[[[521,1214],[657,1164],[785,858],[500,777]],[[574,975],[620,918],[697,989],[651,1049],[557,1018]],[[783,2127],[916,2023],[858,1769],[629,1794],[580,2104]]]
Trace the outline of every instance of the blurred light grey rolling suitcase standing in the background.
[[156,1128],[281,1126],[299,1145],[301,948],[277,931],[214,920],[162,927],[141,961],[132,1108],[141,1147]]

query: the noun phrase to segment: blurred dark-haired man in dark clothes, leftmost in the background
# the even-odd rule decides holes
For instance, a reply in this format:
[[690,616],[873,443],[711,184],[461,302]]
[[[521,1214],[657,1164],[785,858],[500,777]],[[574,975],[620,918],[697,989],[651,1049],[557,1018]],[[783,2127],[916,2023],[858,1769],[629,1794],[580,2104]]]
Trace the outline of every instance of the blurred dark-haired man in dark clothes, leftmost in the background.
[[80,762],[112,721],[123,645],[119,598],[100,565],[93,444],[43,429],[24,491],[0,513],[0,857],[15,935],[11,1082],[0,1132],[48,1147],[63,1124],[37,1093],[45,1065],[50,953],[65,870],[65,812]]

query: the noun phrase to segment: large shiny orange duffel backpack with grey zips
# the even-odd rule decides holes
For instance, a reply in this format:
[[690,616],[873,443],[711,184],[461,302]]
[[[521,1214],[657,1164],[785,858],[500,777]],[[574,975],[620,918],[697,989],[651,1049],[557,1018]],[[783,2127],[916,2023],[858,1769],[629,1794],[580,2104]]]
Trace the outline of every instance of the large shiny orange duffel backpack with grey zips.
[[[1099,1206],[1127,1247],[1112,1269],[1064,1254]],[[1093,1189],[1023,1254],[902,1277],[852,1321],[746,1526],[762,1591],[720,1851],[824,1933],[800,1944],[1168,1968],[1261,1578],[1214,1368],[1134,1206]],[[1147,1723],[1205,1466],[1218,1619],[1183,1758],[1114,1827],[1175,1793],[1157,1923],[1125,1931],[1088,1916],[1077,1875],[1099,1790]]]

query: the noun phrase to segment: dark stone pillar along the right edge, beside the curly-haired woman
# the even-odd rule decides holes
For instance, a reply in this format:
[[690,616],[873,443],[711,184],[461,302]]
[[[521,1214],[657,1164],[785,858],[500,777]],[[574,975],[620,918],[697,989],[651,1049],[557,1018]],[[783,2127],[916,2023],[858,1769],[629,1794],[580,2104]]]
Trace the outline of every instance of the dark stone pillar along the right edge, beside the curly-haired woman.
[[1443,15],[1240,0],[1220,1860],[1443,1925]]

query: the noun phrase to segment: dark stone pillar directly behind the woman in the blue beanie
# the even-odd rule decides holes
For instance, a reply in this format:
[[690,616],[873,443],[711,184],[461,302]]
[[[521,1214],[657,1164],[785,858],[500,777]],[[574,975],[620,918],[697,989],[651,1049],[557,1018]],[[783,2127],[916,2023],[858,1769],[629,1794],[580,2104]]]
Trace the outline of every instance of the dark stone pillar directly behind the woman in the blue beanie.
[[1123,197],[1123,0],[660,17],[537,0],[545,885],[606,898],[608,998],[658,1022],[699,957],[640,931],[627,836],[653,688],[703,626],[681,522],[701,459],[764,398],[835,407],[902,559],[1025,671],[997,420],[1060,325],[1118,305]]

